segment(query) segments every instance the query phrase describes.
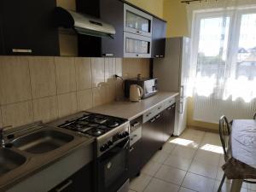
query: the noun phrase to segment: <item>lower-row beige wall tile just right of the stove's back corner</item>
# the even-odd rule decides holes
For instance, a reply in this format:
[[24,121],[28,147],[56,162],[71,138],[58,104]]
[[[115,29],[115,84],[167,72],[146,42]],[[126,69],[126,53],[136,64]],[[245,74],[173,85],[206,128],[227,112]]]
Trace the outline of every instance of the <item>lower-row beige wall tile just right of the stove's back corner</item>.
[[98,87],[92,89],[93,107],[102,105],[107,102],[106,84],[102,83]]

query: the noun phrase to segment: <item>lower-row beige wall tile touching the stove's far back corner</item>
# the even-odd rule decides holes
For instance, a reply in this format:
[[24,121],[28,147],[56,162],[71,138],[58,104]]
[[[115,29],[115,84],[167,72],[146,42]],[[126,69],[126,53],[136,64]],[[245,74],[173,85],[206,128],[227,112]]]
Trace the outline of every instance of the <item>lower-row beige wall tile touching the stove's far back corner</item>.
[[79,90],[78,96],[78,111],[83,111],[92,108],[92,90]]

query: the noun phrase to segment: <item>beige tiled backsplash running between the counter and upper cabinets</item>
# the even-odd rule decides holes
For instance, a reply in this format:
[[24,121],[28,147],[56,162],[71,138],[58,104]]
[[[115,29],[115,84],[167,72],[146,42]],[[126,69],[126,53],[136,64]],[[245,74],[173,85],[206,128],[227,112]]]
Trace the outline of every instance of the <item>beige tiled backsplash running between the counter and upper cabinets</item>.
[[0,56],[0,126],[24,125],[112,102],[124,78],[148,77],[149,60]]

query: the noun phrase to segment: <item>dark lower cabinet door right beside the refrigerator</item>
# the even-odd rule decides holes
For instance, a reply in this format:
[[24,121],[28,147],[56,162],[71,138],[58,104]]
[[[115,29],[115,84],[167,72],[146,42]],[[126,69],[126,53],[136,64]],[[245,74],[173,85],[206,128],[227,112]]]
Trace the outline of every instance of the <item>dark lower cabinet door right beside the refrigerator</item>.
[[166,142],[174,132],[175,124],[175,107],[176,104],[172,104],[169,108],[166,108],[163,112],[164,118],[164,141]]

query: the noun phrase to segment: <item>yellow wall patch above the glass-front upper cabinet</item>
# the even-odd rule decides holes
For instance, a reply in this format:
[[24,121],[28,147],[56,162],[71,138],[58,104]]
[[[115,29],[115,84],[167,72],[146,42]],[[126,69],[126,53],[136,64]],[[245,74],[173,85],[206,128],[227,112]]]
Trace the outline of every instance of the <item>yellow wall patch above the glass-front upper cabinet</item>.
[[128,0],[128,2],[135,4],[139,8],[147,10],[153,15],[163,18],[164,0]]

